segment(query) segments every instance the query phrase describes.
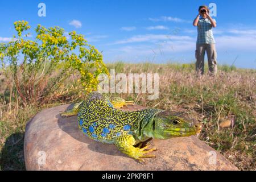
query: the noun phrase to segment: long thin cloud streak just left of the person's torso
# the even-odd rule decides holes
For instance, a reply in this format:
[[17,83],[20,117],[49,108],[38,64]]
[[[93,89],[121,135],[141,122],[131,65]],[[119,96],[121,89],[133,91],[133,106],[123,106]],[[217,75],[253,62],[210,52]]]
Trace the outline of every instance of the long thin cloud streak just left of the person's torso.
[[112,44],[127,44],[127,43],[139,43],[139,42],[158,42],[160,40],[191,40],[189,36],[175,36],[164,34],[146,34],[135,35],[129,39],[118,40]]

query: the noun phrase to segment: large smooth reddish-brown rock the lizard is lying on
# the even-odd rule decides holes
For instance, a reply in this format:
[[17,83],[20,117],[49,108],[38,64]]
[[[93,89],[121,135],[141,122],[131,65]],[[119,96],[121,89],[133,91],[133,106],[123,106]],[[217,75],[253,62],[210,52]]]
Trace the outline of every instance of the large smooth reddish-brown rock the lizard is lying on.
[[[237,170],[221,154],[196,137],[151,140],[155,159],[140,164],[112,144],[96,142],[78,128],[77,117],[61,118],[63,105],[36,114],[26,126],[27,170]],[[143,109],[129,106],[128,110]],[[124,109],[127,110],[127,109]],[[216,164],[214,159],[216,156]]]

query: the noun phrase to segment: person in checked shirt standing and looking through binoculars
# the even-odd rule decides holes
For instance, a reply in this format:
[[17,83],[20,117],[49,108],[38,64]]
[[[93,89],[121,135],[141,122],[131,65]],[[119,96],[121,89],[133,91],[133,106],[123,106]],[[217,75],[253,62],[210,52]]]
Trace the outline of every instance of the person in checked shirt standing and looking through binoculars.
[[196,71],[200,75],[204,74],[205,51],[208,57],[210,75],[217,74],[217,52],[212,27],[216,27],[216,20],[210,17],[208,6],[199,7],[199,15],[193,21],[193,26],[197,26],[196,42]]

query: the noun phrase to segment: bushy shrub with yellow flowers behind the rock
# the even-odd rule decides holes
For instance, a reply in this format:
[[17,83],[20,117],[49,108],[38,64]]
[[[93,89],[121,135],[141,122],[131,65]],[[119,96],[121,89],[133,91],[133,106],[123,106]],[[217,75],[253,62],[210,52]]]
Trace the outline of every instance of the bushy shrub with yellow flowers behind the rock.
[[42,101],[74,72],[79,73],[85,92],[97,89],[100,73],[108,74],[101,53],[83,35],[72,31],[68,39],[63,28],[39,24],[35,40],[29,40],[24,34],[30,29],[28,22],[14,22],[14,27],[17,36],[0,44],[0,60],[24,105]]

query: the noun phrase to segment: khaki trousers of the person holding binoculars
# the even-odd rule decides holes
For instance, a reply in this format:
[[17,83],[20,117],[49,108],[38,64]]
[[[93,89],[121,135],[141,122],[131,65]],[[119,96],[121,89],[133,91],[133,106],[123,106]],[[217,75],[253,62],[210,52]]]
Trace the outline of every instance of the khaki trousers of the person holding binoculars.
[[215,44],[196,44],[196,71],[204,74],[204,55],[207,52],[209,72],[217,74],[217,52]]

